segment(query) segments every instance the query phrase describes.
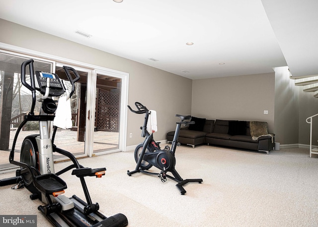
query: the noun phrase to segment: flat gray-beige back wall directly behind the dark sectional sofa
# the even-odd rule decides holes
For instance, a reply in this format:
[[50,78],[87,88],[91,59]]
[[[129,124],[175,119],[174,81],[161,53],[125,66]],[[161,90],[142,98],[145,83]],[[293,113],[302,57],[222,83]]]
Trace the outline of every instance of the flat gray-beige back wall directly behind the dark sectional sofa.
[[192,115],[266,121],[274,132],[274,83],[274,73],[193,80]]

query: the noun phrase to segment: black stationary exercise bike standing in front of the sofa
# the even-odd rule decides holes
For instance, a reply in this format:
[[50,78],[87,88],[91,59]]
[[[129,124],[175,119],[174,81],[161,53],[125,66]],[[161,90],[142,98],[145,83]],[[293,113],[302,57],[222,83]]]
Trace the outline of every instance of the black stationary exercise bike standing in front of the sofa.
[[[180,145],[177,140],[179,136],[179,131],[182,124],[193,124],[193,121],[185,121],[191,119],[191,115],[179,115],[176,114],[175,116],[181,119],[180,122],[176,122],[176,129],[173,137],[173,141],[171,144],[171,149],[169,146],[165,146],[163,150],[161,150],[159,143],[154,140],[154,134],[149,133],[147,130],[147,123],[148,118],[151,112],[142,105],[141,103],[135,103],[138,111],[133,110],[130,106],[128,106],[129,110],[135,114],[146,114],[144,125],[140,127],[142,129],[142,137],[145,137],[145,141],[139,145],[137,145],[135,149],[135,161],[137,163],[136,169],[133,171],[127,170],[127,174],[131,176],[136,172],[142,172],[151,175],[157,175],[162,182],[166,181],[166,178],[170,178],[176,182],[178,182],[175,186],[179,189],[181,195],[186,193],[186,190],[183,188],[188,182],[199,182],[201,183],[202,179],[182,179],[179,173],[175,170],[175,149],[178,145]],[[160,173],[154,173],[147,171],[151,167],[156,167],[160,171]],[[167,172],[171,172],[173,176],[167,174]]]

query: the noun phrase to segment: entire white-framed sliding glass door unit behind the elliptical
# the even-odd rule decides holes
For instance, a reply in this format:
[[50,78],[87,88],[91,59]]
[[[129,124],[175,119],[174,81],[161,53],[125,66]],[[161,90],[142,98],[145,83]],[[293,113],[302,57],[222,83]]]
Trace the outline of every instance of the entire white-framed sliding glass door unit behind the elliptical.
[[[67,65],[75,68],[80,75],[71,99],[73,126],[58,129],[54,140],[58,147],[76,157],[126,151],[128,73],[61,57],[50,56],[48,58],[52,60],[47,60],[45,54],[32,51],[32,55],[43,58],[18,54],[28,53],[28,50],[1,43],[0,48],[4,48],[0,50],[0,171],[12,169],[9,151],[15,131],[30,110],[31,92],[20,81],[21,64],[30,58],[34,59],[34,70],[55,72],[60,78],[67,79],[63,70],[63,66]],[[29,80],[28,68],[26,74]],[[37,102],[35,114],[39,113],[39,109],[40,103]],[[21,130],[15,146],[15,160],[20,158],[23,139],[37,133],[38,122],[28,122]],[[55,159],[62,158],[54,155]]]

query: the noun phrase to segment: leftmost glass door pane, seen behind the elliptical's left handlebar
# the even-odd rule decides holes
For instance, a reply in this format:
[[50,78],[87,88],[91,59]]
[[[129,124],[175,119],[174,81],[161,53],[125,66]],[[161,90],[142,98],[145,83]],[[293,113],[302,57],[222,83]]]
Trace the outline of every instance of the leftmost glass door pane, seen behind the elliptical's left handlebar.
[[[9,169],[9,151],[15,132],[24,115],[30,111],[31,91],[21,84],[21,64],[29,58],[0,53],[0,169]],[[52,71],[50,62],[34,60],[34,70]],[[30,81],[29,68],[26,69],[26,82]],[[38,95],[38,94],[37,94]],[[37,104],[35,113],[39,113]],[[19,160],[21,144],[25,136],[38,133],[36,122],[28,122],[17,139],[14,160]]]

